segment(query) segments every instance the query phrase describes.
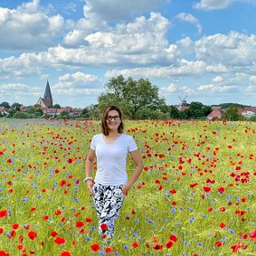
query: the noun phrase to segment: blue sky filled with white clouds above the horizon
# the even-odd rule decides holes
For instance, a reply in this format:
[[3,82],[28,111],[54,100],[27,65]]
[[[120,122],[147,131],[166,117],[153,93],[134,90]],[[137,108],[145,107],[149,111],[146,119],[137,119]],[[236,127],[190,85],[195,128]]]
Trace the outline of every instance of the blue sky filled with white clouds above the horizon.
[[111,77],[168,105],[256,106],[256,0],[0,0],[0,102],[97,104]]

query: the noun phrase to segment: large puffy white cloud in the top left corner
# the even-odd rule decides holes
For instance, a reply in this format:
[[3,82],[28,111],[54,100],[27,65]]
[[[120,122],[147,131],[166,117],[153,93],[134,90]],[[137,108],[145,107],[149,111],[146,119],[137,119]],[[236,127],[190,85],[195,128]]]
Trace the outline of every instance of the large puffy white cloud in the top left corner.
[[0,48],[2,50],[42,50],[64,32],[65,21],[58,14],[48,16],[39,0],[22,4],[16,10],[0,7]]

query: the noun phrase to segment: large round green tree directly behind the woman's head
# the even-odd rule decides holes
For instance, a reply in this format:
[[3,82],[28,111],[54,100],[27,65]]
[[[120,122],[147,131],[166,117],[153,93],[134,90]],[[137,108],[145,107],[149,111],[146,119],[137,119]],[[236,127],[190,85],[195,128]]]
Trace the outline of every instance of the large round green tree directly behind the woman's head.
[[[155,118],[155,111],[166,111],[164,99],[158,97],[158,88],[148,80],[140,78],[138,81],[131,77],[124,79],[124,76],[111,78],[105,85],[106,92],[99,97],[99,109],[102,112],[109,105],[117,105],[122,108],[124,116],[135,119],[141,116],[140,108],[143,107],[147,118]],[[148,108],[148,110],[145,110]],[[140,115],[137,113],[140,111]],[[164,112],[165,113],[165,112]],[[145,115],[142,116],[145,116]],[[161,116],[161,115],[158,115]]]

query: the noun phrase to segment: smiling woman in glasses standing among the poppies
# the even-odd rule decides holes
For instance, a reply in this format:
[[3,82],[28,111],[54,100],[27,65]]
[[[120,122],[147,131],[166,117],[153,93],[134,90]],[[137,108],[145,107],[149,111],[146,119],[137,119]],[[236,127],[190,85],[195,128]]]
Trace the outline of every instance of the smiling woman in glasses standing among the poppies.
[[[92,138],[85,161],[87,188],[96,206],[99,232],[106,244],[114,236],[116,217],[133,183],[143,170],[143,163],[132,136],[124,134],[124,121],[120,108],[108,107],[101,118],[102,133]],[[136,168],[128,180],[126,158],[131,154]],[[92,183],[92,165],[97,158],[97,172]]]

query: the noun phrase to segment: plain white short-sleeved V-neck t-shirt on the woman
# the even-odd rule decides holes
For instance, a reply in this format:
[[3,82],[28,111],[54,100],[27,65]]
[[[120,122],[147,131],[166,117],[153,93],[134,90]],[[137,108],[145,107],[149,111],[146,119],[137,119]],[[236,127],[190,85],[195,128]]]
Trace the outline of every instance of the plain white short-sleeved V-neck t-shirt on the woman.
[[103,134],[92,137],[91,148],[97,157],[95,182],[101,185],[124,185],[128,180],[126,158],[128,152],[137,148],[132,136],[124,133],[111,144],[103,140]]

